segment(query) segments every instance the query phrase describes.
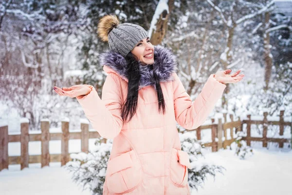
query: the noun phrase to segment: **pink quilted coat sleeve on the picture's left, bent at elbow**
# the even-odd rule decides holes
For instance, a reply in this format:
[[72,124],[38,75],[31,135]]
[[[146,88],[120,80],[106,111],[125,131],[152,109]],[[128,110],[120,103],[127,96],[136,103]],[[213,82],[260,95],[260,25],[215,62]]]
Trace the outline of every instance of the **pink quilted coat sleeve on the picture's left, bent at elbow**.
[[120,90],[115,77],[114,74],[107,76],[102,98],[99,98],[93,86],[90,86],[88,95],[76,97],[92,127],[101,137],[108,139],[116,137],[123,127]]

